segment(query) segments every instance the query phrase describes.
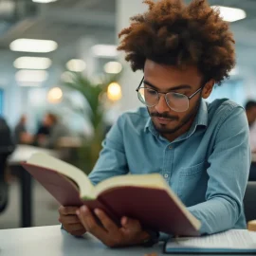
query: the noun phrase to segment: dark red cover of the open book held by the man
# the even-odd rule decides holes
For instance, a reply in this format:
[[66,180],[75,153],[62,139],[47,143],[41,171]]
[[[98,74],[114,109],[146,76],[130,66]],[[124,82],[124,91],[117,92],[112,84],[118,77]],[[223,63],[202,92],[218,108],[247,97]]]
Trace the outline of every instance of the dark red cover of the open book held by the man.
[[85,204],[91,210],[104,210],[117,223],[122,216],[127,216],[139,220],[145,229],[175,235],[199,234],[195,228],[199,222],[192,224],[193,219],[187,215],[190,213],[186,214],[186,208],[177,204],[164,189],[118,186],[101,192],[95,200],[84,201],[80,197],[76,183],[63,174],[27,163],[22,165],[63,206]]

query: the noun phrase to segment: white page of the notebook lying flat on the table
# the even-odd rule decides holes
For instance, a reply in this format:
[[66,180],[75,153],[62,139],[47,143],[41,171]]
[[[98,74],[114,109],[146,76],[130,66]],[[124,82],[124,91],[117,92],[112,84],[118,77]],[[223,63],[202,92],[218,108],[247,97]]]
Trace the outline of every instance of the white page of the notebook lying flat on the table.
[[256,249],[256,232],[247,229],[230,229],[208,236],[173,238],[166,244],[167,251],[172,248]]

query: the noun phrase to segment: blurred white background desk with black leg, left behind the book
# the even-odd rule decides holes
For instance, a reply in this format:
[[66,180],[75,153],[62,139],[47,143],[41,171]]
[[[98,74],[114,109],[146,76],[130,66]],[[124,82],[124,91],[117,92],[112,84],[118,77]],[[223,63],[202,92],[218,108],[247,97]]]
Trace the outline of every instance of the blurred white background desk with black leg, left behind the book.
[[34,153],[45,153],[55,157],[60,157],[57,151],[42,149],[29,145],[17,145],[14,152],[9,155],[8,165],[10,169],[19,175],[21,192],[20,192],[20,209],[21,209],[21,228],[33,226],[32,217],[32,178],[31,175],[24,170],[21,162],[27,161]]

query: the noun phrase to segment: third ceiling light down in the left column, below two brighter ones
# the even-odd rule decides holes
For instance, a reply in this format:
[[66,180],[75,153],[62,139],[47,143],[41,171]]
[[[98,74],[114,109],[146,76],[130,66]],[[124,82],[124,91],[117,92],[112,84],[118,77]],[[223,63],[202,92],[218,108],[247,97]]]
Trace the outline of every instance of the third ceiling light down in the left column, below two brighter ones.
[[48,78],[46,70],[19,70],[15,75],[17,82],[45,82]]

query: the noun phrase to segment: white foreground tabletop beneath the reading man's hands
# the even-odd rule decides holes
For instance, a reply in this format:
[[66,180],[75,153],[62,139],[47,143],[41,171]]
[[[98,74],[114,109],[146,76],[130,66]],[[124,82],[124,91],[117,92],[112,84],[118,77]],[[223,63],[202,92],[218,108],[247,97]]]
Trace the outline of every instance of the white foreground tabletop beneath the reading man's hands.
[[90,235],[75,238],[60,226],[0,230],[1,256],[143,256],[151,252],[163,255],[162,247],[163,244],[110,249]]

